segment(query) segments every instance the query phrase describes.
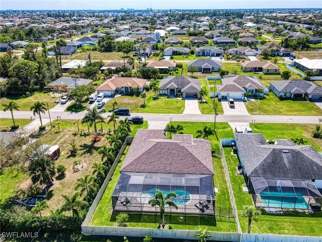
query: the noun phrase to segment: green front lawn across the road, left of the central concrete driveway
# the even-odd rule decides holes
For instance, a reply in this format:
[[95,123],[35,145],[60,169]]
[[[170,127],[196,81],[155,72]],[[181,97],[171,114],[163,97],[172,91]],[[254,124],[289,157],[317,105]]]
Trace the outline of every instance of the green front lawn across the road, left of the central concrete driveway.
[[117,96],[110,99],[105,107],[106,110],[112,109],[112,102],[117,101],[118,107],[129,107],[134,113],[183,113],[185,110],[185,101],[177,98],[159,97],[153,100],[153,92],[146,92],[145,107],[140,107],[143,104],[143,99],[137,96]]

